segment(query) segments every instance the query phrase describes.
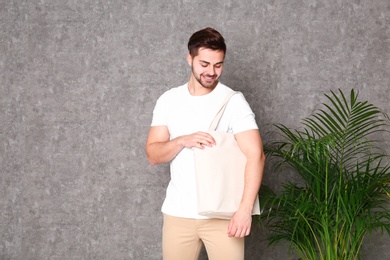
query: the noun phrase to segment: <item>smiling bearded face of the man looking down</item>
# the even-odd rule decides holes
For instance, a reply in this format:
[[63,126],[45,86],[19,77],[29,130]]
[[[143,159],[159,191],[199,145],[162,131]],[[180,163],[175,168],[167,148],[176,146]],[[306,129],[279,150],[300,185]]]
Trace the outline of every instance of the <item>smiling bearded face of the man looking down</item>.
[[188,64],[192,67],[192,76],[203,87],[214,88],[222,74],[224,58],[225,53],[223,51],[200,48],[197,56],[192,58],[191,55],[188,55]]

